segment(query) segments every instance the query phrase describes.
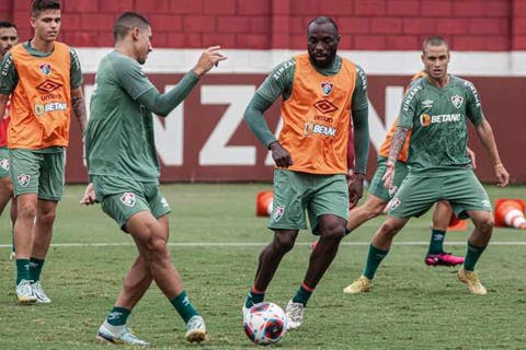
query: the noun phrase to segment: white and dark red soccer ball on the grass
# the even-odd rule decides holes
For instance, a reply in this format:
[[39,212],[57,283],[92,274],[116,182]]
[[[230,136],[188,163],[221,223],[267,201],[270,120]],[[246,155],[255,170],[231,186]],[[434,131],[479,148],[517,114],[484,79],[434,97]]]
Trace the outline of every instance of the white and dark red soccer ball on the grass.
[[287,315],[274,303],[259,303],[243,315],[244,332],[254,343],[276,343],[287,331]]

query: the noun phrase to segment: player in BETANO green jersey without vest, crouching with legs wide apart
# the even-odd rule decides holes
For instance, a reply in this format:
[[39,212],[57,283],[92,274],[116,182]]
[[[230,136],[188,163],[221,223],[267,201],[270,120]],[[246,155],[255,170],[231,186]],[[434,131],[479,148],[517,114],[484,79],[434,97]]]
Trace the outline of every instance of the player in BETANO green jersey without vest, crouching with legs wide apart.
[[469,217],[474,224],[458,279],[470,293],[487,294],[474,267],[491,240],[493,213],[490,198],[467,155],[468,119],[490,156],[498,186],[506,186],[510,175],[499,156],[474,85],[447,72],[450,58],[447,42],[432,36],[424,40],[422,49],[427,78],[415,81],[402,101],[382,180],[386,188],[392,187],[398,156],[407,133],[411,132],[409,174],[389,203],[386,221],[373,236],[363,276],[346,288],[347,293],[370,289],[395,235],[411,217],[424,213],[438,200],[447,200],[458,218]]

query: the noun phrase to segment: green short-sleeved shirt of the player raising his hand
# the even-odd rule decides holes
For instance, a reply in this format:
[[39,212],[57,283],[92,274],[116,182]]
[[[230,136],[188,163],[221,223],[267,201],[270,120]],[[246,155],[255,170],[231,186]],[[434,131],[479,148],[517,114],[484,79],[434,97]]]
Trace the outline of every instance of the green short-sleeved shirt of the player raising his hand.
[[98,68],[85,131],[89,175],[158,182],[153,116],[137,100],[156,89],[139,63],[117,51]]

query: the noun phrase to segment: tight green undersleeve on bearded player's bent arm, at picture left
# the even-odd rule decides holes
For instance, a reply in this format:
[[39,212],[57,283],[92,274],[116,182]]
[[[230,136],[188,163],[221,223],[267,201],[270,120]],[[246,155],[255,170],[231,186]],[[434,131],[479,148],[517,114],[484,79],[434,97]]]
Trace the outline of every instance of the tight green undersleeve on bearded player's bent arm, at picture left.
[[268,109],[270,106],[272,106],[272,102],[255,93],[244,112],[244,122],[247,122],[250,131],[252,131],[266,148],[268,148],[272,142],[277,141],[263,116],[263,112]]

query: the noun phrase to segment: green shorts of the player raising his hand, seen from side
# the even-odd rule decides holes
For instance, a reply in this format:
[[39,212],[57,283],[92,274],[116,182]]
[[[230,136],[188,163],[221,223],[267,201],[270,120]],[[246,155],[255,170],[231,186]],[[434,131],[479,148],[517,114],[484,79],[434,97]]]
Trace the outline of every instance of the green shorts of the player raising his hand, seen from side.
[[159,183],[142,183],[114,176],[92,176],[96,199],[102,210],[121,229],[132,215],[149,211],[155,218],[168,214],[172,209],[159,190]]

